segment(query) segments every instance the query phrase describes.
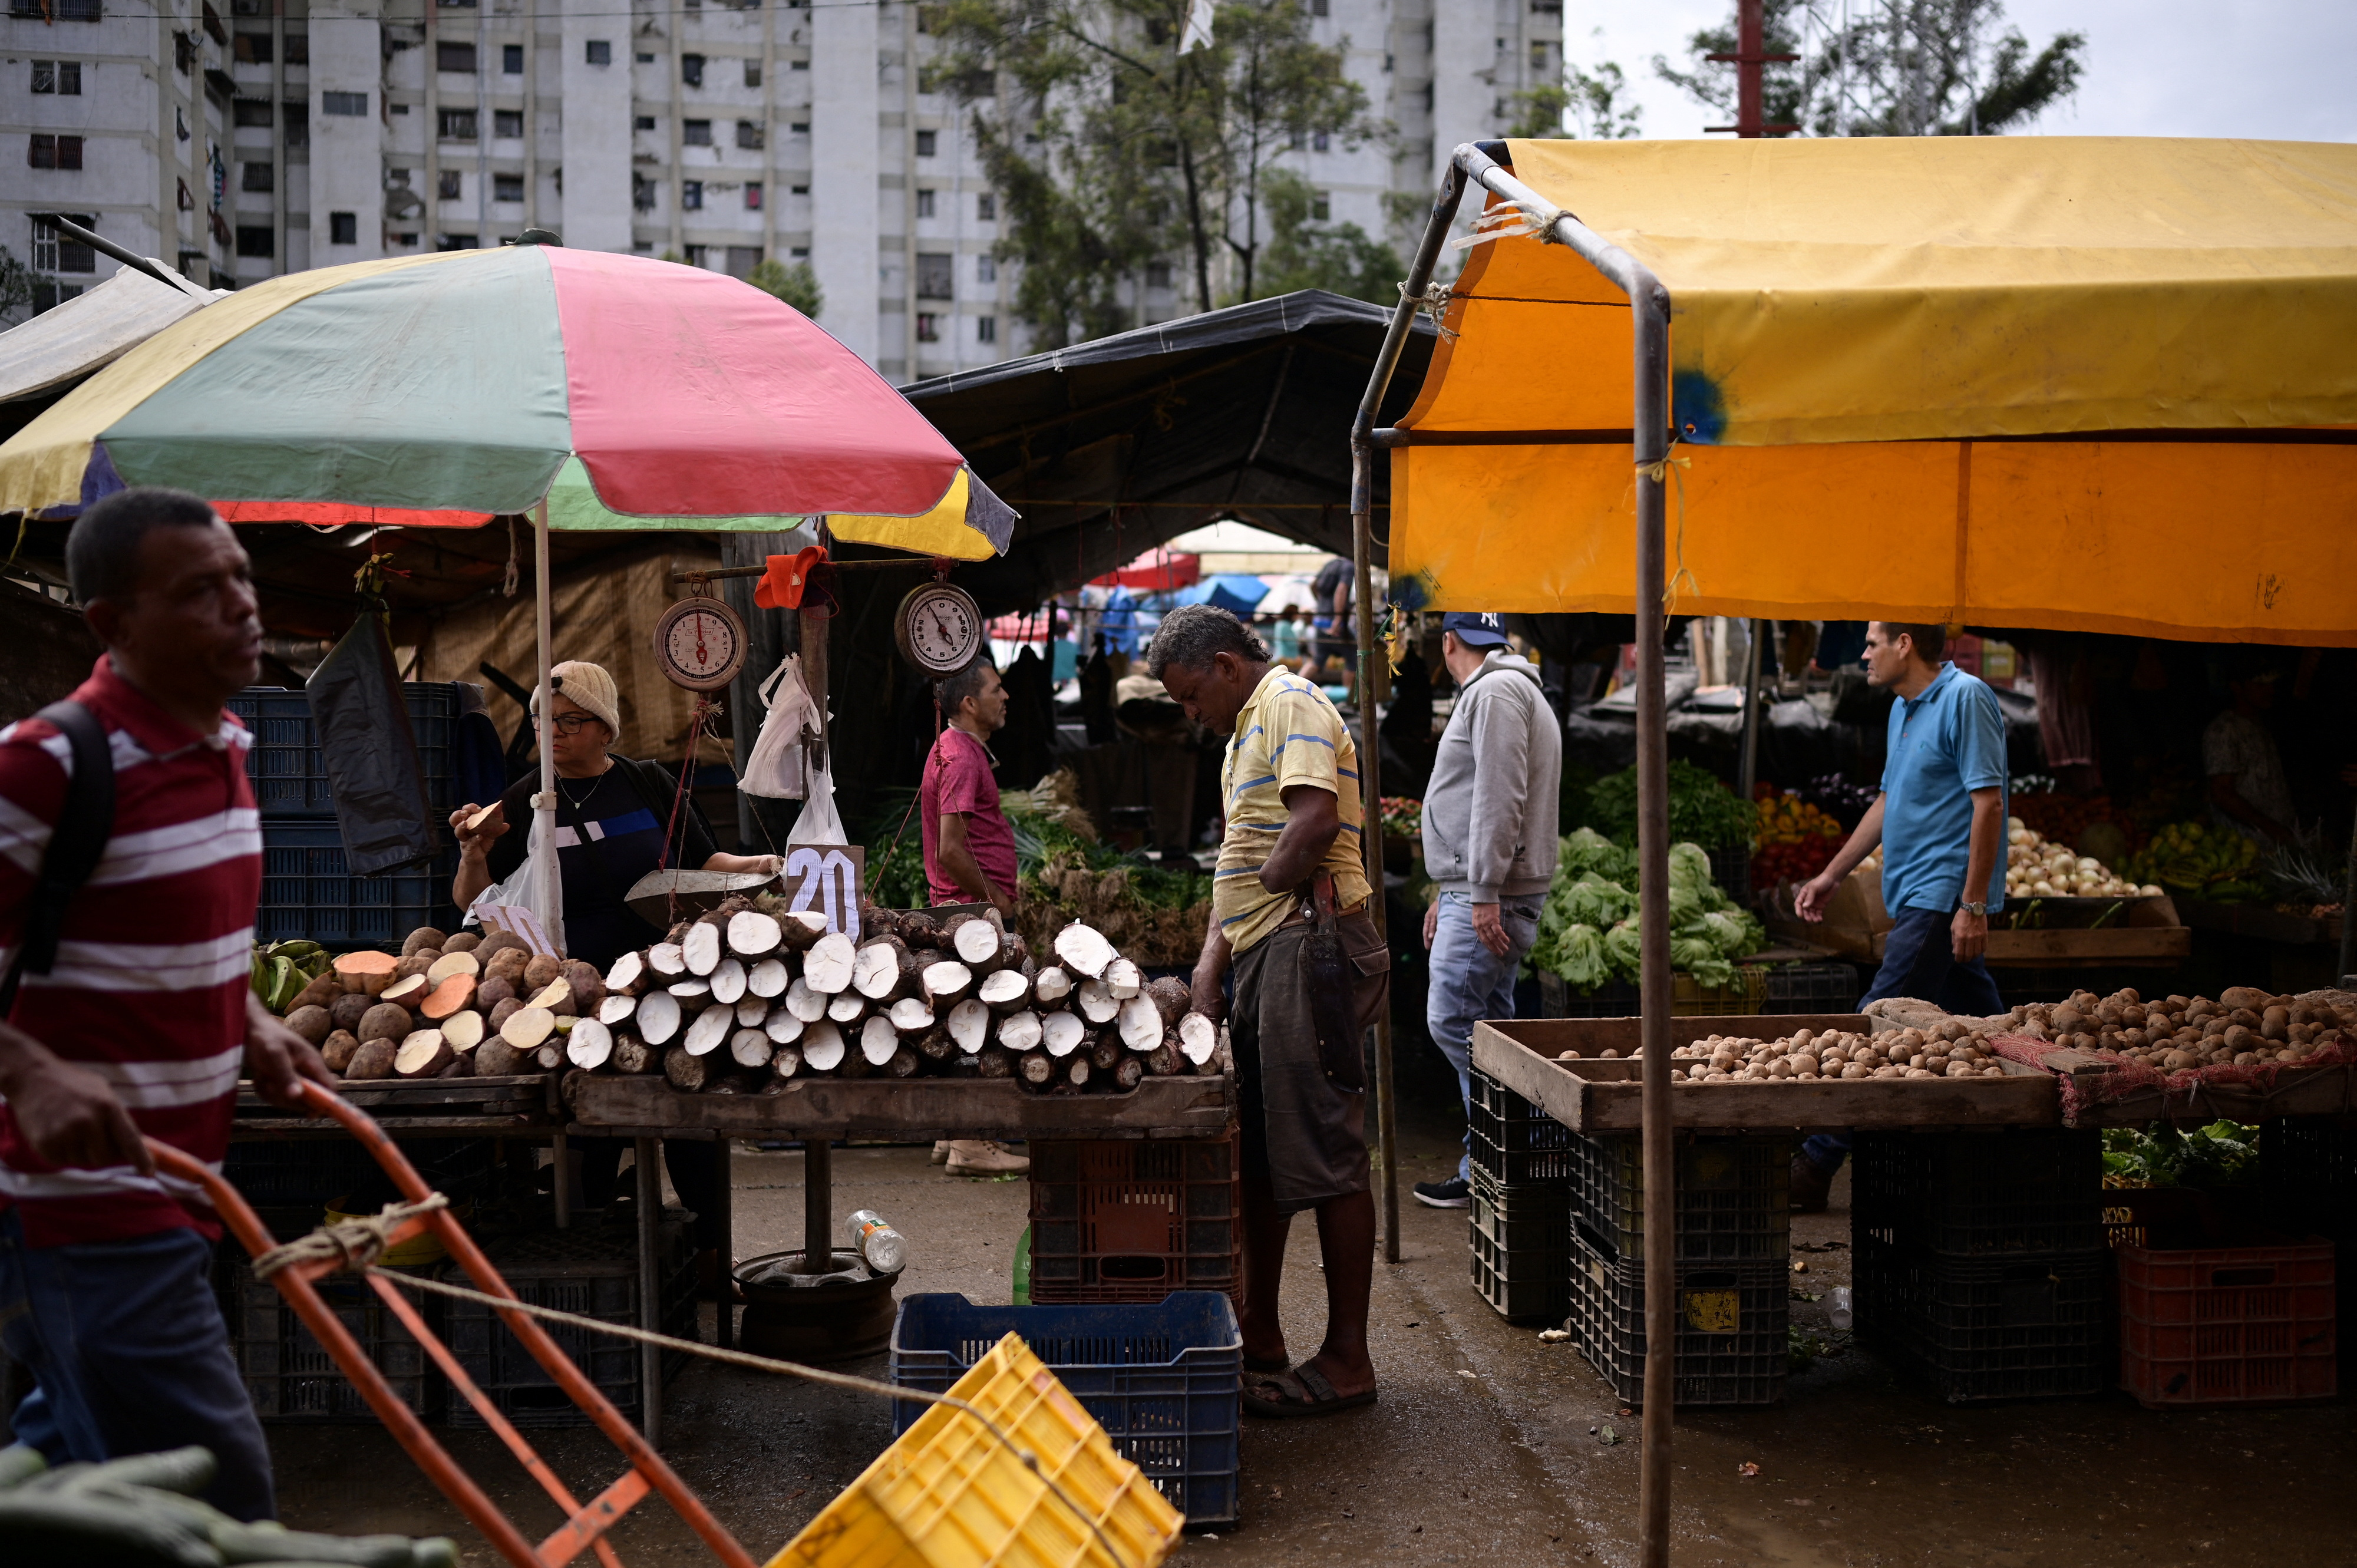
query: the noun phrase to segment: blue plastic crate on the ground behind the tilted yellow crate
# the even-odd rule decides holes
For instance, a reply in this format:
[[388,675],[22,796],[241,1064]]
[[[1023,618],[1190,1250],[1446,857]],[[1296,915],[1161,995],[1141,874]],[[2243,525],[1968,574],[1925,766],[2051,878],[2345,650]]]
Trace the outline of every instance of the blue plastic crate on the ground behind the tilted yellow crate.
[[[900,1302],[891,1382],[948,1394],[1004,1335],[1072,1391],[1113,1445],[1155,1483],[1188,1528],[1240,1516],[1237,1424],[1244,1335],[1216,1290],[1174,1290],[1157,1306],[976,1306],[962,1294]],[[893,1436],[924,1405],[893,1405]]]

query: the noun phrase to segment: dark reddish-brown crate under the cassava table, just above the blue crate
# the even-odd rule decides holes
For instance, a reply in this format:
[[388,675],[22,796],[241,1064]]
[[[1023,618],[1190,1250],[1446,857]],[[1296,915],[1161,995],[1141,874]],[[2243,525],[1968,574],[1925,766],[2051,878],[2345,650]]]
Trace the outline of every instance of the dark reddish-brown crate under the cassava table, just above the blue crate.
[[1240,1299],[1235,1137],[1032,1141],[1030,1162],[1032,1302]]

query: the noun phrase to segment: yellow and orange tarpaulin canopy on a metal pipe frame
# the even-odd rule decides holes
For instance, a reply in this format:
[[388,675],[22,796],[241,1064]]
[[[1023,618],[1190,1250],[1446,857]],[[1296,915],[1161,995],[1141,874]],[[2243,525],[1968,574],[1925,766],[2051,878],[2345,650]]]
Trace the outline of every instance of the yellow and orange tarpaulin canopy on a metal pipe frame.
[[[1678,613],[2357,644],[2357,146],[1504,146],[1669,295]],[[1499,238],[1447,325],[1395,597],[1626,613],[1626,297]]]

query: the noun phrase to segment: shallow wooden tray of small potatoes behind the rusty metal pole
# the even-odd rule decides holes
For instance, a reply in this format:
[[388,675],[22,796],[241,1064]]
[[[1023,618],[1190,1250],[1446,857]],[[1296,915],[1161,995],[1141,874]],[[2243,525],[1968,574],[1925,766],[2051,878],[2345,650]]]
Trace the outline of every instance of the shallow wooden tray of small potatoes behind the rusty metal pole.
[[[1794,1030],[1874,1033],[1864,1014],[1671,1019],[1669,1042],[1782,1040]],[[1501,1019],[1473,1026],[1473,1066],[1572,1132],[1636,1132],[1643,1118],[1638,1019]],[[1617,1049],[1619,1059],[1600,1059]],[[1579,1052],[1579,1061],[1558,1061]],[[2003,1078],[1820,1078],[1671,1087],[1678,1127],[2058,1127],[2055,1080],[2018,1061]]]

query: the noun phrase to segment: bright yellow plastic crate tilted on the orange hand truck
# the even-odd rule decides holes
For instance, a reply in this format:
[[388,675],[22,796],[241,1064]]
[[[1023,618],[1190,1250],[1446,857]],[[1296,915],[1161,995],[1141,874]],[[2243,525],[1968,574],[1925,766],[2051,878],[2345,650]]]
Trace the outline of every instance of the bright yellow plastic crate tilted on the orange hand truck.
[[[1157,1568],[1178,1544],[1186,1516],[1113,1450],[1021,1337],[990,1346],[950,1394],[988,1415],[1011,1448],[964,1410],[933,1405],[768,1568]],[[1037,1455],[1039,1469],[1018,1450]]]

